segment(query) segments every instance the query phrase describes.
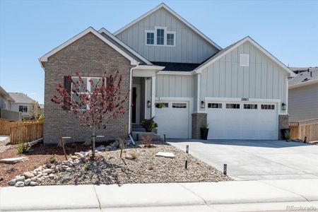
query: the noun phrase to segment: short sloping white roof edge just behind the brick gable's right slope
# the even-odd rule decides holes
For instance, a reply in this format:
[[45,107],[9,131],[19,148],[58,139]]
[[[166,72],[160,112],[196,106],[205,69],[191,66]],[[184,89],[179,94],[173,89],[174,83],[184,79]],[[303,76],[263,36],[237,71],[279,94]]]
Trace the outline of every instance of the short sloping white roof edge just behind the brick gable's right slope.
[[117,45],[117,47],[119,47],[122,50],[124,50],[127,54],[130,54],[131,57],[134,57],[135,59],[140,60],[144,64],[151,65],[150,61],[148,61],[146,58],[142,57],[140,54],[135,52],[134,49],[131,49],[131,47],[129,47],[126,44],[124,44],[124,42],[119,40],[116,36],[112,35],[112,33],[110,33],[110,31],[106,30],[105,28],[101,28],[100,30],[98,30],[98,33],[100,33],[100,34],[104,33],[105,36],[107,36],[108,39],[112,43],[114,43],[114,45]]

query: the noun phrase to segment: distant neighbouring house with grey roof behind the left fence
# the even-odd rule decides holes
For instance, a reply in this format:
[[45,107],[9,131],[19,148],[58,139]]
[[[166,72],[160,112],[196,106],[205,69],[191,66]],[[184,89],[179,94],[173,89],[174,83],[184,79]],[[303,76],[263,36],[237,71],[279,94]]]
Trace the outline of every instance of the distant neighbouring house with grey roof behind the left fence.
[[30,119],[33,116],[33,112],[37,110],[38,104],[35,100],[28,97],[24,93],[8,93],[14,102],[11,103],[11,110],[22,113],[23,119]]

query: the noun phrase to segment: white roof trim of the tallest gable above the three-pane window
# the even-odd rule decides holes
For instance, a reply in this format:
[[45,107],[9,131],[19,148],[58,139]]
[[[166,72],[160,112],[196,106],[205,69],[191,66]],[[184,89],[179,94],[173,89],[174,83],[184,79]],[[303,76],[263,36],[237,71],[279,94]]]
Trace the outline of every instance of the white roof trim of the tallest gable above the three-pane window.
[[194,30],[195,33],[199,34],[201,37],[204,38],[204,40],[206,40],[207,42],[211,43],[211,45],[213,45],[214,47],[216,47],[217,49],[222,49],[219,45],[217,45],[215,42],[213,42],[210,38],[206,37],[206,35],[204,35],[204,33],[201,33],[197,28],[194,27],[194,25],[192,25],[191,23],[187,22],[187,20],[185,20],[184,18],[182,18],[181,16],[179,16],[178,13],[176,13],[175,11],[172,10],[172,8],[170,8],[169,6],[167,6],[164,3],[159,4],[158,6],[156,6],[155,8],[153,8],[151,11],[148,11],[147,13],[143,14],[142,16],[140,16],[139,18],[136,18],[135,20],[133,20],[131,23],[125,25],[123,28],[120,28],[119,30],[117,30],[116,32],[114,32],[114,35],[118,35],[119,33],[122,33],[124,30],[126,30],[127,28],[131,27],[131,25],[134,25],[135,23],[138,23],[139,20],[142,20],[143,18],[146,18],[146,16],[149,16],[151,13],[154,13],[155,11],[158,11],[160,8],[165,8],[167,11],[169,11],[170,13],[172,13],[173,16],[175,16],[177,19],[179,19],[182,23],[184,23],[185,25],[187,25],[189,28],[191,28],[192,30]]

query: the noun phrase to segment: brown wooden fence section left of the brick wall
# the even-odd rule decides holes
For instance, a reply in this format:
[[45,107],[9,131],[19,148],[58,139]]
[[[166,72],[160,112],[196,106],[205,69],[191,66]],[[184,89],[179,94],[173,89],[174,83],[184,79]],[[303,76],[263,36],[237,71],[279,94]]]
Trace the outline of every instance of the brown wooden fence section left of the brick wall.
[[30,142],[43,138],[43,119],[37,121],[11,122],[10,142]]

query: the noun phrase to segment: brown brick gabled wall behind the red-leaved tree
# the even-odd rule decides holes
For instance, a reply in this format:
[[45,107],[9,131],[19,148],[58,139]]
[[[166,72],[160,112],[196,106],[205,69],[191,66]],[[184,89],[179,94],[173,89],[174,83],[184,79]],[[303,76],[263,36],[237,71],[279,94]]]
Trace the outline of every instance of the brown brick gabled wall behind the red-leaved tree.
[[[57,83],[63,84],[64,76],[109,76],[119,69],[123,75],[122,89],[129,90],[129,70],[131,64],[126,57],[102,42],[93,33],[88,33],[71,45],[61,49],[49,57],[45,68],[45,122],[44,142],[57,143],[57,128],[63,136],[71,136],[71,141],[86,141],[90,139],[91,131],[87,126],[81,126],[74,114],[61,109],[61,106],[51,102],[53,95],[57,95]],[[126,114],[110,122],[106,129],[97,134],[105,139],[116,139],[124,134],[124,124],[128,124],[129,101],[126,102]]]

